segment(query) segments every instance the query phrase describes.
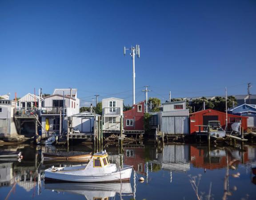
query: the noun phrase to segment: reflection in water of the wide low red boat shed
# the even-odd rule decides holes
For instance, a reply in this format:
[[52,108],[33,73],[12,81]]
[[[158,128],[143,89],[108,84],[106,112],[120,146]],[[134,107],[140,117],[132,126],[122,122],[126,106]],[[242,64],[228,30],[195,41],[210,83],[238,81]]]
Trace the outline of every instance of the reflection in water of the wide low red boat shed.
[[[246,150],[246,148],[245,148]],[[248,151],[241,151],[239,148],[232,147],[219,147],[210,148],[208,146],[191,146],[191,163],[196,168],[205,169],[217,169],[226,168],[227,161],[226,156],[228,155],[228,161],[238,160],[237,162],[248,161]]]

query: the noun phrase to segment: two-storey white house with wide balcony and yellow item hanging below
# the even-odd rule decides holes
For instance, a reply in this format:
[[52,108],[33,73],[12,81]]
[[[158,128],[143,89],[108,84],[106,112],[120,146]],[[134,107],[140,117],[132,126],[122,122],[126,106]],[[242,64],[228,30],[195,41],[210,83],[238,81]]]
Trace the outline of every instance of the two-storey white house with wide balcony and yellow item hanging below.
[[52,95],[44,97],[40,110],[42,133],[67,132],[68,117],[78,114],[79,109],[77,89],[55,89]]

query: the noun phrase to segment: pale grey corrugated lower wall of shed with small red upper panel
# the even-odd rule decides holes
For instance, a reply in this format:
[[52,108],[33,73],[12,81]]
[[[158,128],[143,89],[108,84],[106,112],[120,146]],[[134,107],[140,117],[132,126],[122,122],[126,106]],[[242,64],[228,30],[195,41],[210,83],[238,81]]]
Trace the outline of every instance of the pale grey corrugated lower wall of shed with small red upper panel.
[[162,131],[164,134],[188,134],[188,116],[163,116]]

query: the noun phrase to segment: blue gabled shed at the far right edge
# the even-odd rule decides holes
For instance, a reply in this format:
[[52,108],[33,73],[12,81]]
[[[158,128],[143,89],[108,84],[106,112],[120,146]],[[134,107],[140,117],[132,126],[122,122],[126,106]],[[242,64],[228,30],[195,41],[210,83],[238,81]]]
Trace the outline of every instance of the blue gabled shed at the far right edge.
[[256,127],[256,104],[242,104],[229,109],[228,113],[239,116],[246,116],[248,127]]

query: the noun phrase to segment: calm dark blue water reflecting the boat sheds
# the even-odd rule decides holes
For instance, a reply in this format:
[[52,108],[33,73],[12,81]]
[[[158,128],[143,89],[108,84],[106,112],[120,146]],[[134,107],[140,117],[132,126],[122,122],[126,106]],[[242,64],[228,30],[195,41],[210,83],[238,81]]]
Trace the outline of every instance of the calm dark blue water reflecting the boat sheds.
[[[71,151],[92,151],[93,146],[76,145]],[[0,160],[0,199],[8,200],[242,200],[256,199],[256,146],[211,147],[198,144],[130,145],[119,154],[107,151],[112,163],[133,165],[144,183],[77,184],[40,181],[44,169],[60,163],[42,163],[41,152],[66,151],[45,146],[6,146],[0,150],[22,151],[24,159]],[[36,161],[37,160],[37,161]],[[62,163],[63,164],[63,163]],[[77,163],[69,163],[77,164]],[[229,166],[229,167],[228,167]],[[134,180],[136,183],[134,184]],[[254,183],[253,183],[254,182]],[[121,189],[122,187],[122,189]],[[121,191],[121,193],[120,193]]]

